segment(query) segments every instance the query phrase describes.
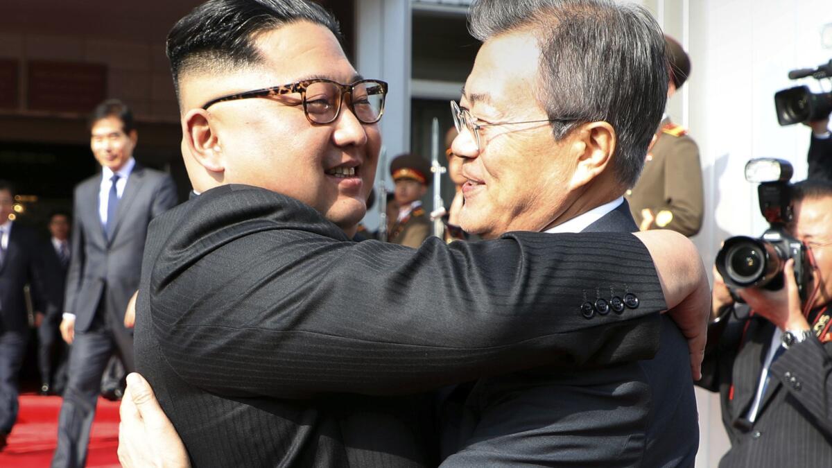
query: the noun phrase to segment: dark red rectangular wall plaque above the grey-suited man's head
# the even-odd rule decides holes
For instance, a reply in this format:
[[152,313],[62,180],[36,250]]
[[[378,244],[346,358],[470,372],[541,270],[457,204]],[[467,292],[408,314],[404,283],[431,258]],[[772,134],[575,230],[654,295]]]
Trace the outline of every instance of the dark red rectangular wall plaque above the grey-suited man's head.
[[105,65],[32,60],[27,77],[32,111],[86,114],[106,97]]

